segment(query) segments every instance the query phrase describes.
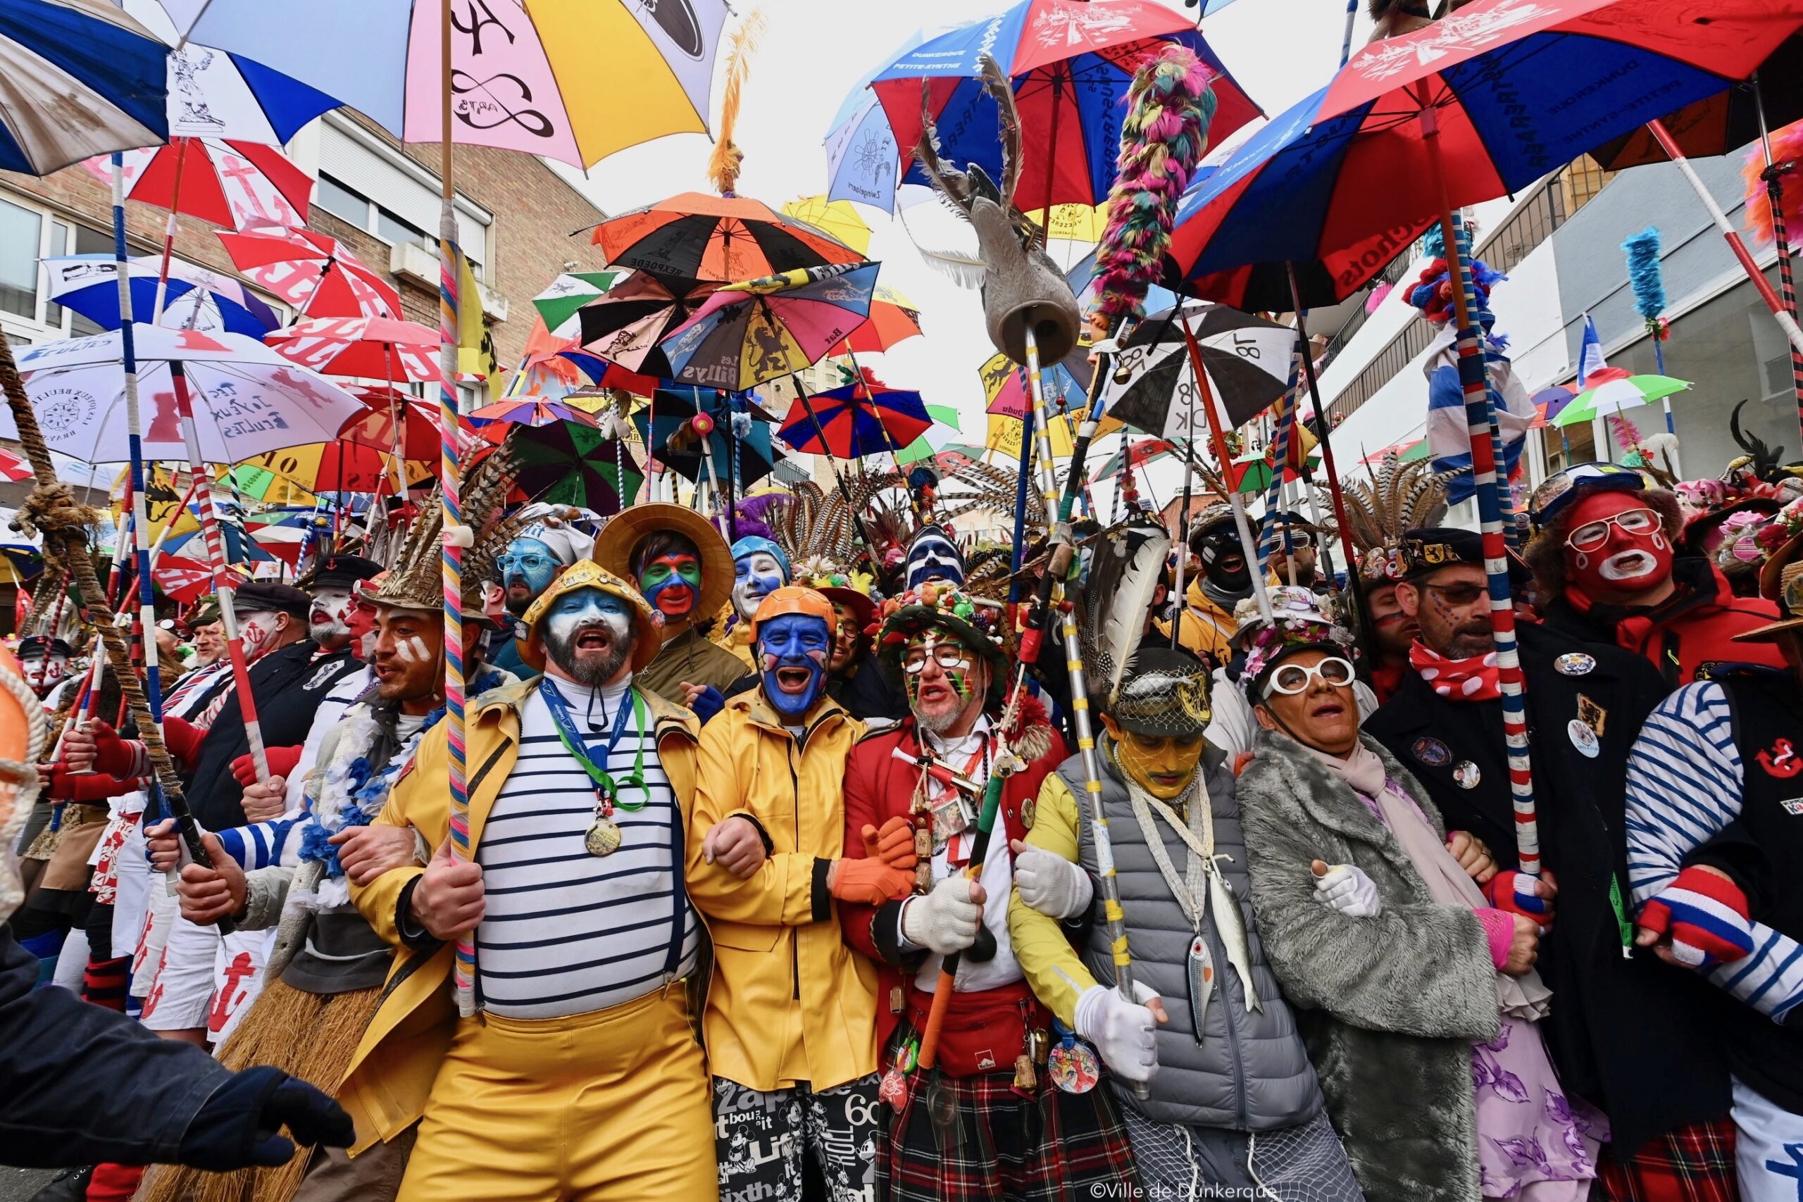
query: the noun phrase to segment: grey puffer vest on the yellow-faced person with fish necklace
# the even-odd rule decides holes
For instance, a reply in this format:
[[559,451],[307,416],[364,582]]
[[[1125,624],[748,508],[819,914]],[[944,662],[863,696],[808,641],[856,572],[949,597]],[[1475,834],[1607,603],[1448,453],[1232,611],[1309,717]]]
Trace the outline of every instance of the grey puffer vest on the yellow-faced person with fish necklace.
[[[1246,937],[1251,957],[1253,988],[1262,1011],[1246,1009],[1246,993],[1239,973],[1228,964],[1226,944],[1210,919],[1203,921],[1203,937],[1215,962],[1215,989],[1203,1020],[1203,1040],[1195,1040],[1190,1020],[1188,955],[1195,937],[1183,906],[1158,870],[1158,861],[1145,843],[1139,820],[1134,818],[1127,786],[1114,775],[1114,764],[1103,748],[1102,804],[1109,816],[1109,838],[1114,847],[1114,874],[1121,892],[1121,910],[1127,914],[1127,946],[1132,953],[1134,980],[1156,989],[1165,1002],[1170,1022],[1158,1029],[1158,1076],[1145,1101],[1132,1090],[1116,1085],[1116,1097],[1158,1123],[1186,1126],[1222,1126],[1240,1132],[1269,1132],[1307,1123],[1322,1112],[1322,1087],[1314,1065],[1296,1034],[1296,1020],[1278,993],[1277,977],[1264,962],[1258,928],[1251,912],[1251,885],[1246,878],[1246,838],[1240,834],[1239,802],[1233,795],[1233,773],[1226,759],[1212,748],[1203,753],[1204,788],[1215,818],[1215,854],[1228,887],[1240,903],[1246,919]],[[1058,766],[1058,775],[1084,806],[1084,764],[1071,757]],[[1154,816],[1158,833],[1172,867],[1181,874],[1190,861],[1188,845],[1163,818]],[[1096,876],[1096,847],[1087,813],[1082,822],[1080,860]],[[1114,959],[1109,953],[1107,932],[1098,919],[1082,948],[1084,962],[1102,984],[1114,984]]]

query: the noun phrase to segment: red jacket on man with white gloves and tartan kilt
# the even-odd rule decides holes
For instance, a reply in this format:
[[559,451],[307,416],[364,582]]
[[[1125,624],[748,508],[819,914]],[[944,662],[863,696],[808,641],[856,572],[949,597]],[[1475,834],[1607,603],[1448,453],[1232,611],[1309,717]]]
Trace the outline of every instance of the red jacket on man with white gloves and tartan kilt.
[[[1002,825],[1006,825],[1006,836],[1002,831],[995,831],[990,836],[992,840],[1026,838],[1026,824],[1020,820],[1020,804],[1039,797],[1040,780],[1046,779],[1046,773],[1062,764],[1066,757],[1064,739],[1060,739],[1058,732],[1051,728],[1051,723],[1046,717],[1046,708],[1037,699],[1028,697],[1022,701],[1020,724],[1026,730],[1026,737],[1013,744],[1017,753],[1024,755],[1026,750],[1037,750],[1033,746],[1022,748],[1020,742],[1039,742],[1040,746],[1049,746],[1044,753],[1028,762],[1022,771],[1010,777],[1008,784],[1002,786],[1001,815]],[[912,806],[914,786],[920,780],[921,769],[914,764],[903,764],[894,759],[892,751],[898,746],[909,755],[920,753],[920,741],[914,735],[912,717],[903,719],[896,726],[869,733],[860,739],[855,748],[851,748],[851,760],[846,764],[847,860],[858,860],[864,856],[862,831],[865,824],[880,827],[889,818],[898,815],[907,816],[909,807]],[[885,1047],[889,1043],[889,1036],[896,1029],[896,1022],[902,1016],[907,998],[905,977],[911,973],[903,971],[903,957],[898,952],[894,937],[900,910],[900,901],[891,901],[883,906],[849,903],[840,903],[838,906],[838,921],[846,930],[846,942],[876,961],[878,1047]],[[950,1013],[956,1015],[959,1002],[968,997],[981,995],[954,995]]]

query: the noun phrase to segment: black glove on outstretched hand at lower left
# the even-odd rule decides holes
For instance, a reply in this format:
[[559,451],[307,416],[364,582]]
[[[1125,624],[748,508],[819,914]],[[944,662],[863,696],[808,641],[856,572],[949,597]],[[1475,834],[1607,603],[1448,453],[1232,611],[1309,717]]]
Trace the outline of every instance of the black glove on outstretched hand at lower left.
[[200,1105],[182,1132],[177,1159],[215,1173],[245,1166],[274,1168],[294,1155],[294,1141],[346,1148],[355,1137],[350,1115],[307,1081],[267,1065],[234,1072]]

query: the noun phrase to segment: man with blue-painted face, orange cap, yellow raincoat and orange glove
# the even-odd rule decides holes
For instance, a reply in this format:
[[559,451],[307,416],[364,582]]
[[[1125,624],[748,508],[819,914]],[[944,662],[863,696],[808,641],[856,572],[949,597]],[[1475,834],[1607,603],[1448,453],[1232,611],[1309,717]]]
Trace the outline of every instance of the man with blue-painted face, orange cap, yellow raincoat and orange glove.
[[[826,694],[833,606],[783,586],[754,615],[759,687],[701,732],[689,890],[714,937],[707,997],[721,1202],[801,1197],[811,1159],[833,1202],[873,1193],[880,1139],[876,973],[833,903],[905,897],[905,816],[846,834],[840,789],[864,728]],[[865,858],[846,860],[847,842]],[[732,869],[755,865],[748,879]],[[764,1150],[775,1155],[766,1155]]]

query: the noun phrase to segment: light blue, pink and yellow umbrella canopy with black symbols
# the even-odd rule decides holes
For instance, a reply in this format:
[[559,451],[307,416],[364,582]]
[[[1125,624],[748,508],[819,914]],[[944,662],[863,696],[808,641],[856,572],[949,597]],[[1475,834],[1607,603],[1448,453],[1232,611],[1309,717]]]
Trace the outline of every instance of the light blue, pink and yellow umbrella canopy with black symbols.
[[[442,141],[438,4],[310,0],[305,20],[270,20],[265,0],[162,7],[184,38],[301,79],[406,142]],[[454,142],[588,168],[653,137],[707,130],[723,0],[525,0],[460,14]]]

